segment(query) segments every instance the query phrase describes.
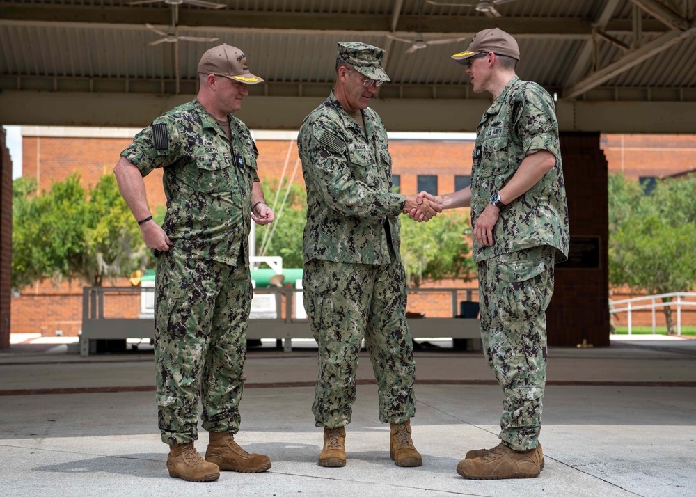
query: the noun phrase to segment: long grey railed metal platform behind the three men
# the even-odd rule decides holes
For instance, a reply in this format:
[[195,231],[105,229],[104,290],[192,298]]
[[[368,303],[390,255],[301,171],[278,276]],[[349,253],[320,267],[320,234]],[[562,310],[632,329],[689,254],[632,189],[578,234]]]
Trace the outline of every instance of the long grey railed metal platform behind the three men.
[[[452,295],[451,317],[409,318],[409,329],[413,337],[446,337],[470,340],[468,349],[480,350],[481,337],[479,319],[457,319],[459,292],[465,292],[470,300],[474,288],[418,288],[409,289],[409,293],[445,292]],[[82,333],[79,340],[81,356],[97,352],[97,340],[119,340],[126,338],[154,338],[155,314],[138,306],[140,317],[109,317],[105,313],[106,301],[114,296],[139,294],[154,304],[155,299],[143,297],[146,292],[155,292],[154,288],[145,287],[84,287],[82,293]],[[301,288],[263,288],[255,289],[255,296],[272,295],[275,300],[275,312],[255,305],[252,300],[251,315],[248,321],[247,338],[276,338],[283,340],[283,349],[292,349],[293,338],[313,338],[308,319],[294,317],[293,303],[301,302]],[[266,297],[267,299],[267,297]],[[255,300],[260,303],[262,299]],[[301,305],[301,303],[300,303]],[[116,308],[116,306],[112,307]],[[122,310],[122,309],[120,309]],[[145,311],[145,312],[143,312]],[[302,309],[303,311],[303,309]],[[302,312],[300,315],[304,315]]]

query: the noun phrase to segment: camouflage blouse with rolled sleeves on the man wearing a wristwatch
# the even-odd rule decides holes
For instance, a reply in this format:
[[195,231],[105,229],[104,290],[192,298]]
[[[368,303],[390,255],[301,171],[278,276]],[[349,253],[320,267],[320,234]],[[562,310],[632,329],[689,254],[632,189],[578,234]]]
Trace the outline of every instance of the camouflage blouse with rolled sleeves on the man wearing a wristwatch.
[[522,161],[548,150],[556,164],[544,178],[500,211],[493,245],[473,240],[476,262],[533,246],[557,249],[556,262],[568,255],[568,205],[553,99],[532,81],[514,77],[484,113],[476,131],[471,178],[471,225],[502,189]]

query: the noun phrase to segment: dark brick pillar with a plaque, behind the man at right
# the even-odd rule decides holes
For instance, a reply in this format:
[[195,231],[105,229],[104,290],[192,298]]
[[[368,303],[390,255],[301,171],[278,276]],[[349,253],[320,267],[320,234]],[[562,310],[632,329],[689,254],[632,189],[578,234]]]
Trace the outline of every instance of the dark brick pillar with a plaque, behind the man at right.
[[560,134],[571,258],[556,266],[548,345],[609,345],[608,164],[599,133]]

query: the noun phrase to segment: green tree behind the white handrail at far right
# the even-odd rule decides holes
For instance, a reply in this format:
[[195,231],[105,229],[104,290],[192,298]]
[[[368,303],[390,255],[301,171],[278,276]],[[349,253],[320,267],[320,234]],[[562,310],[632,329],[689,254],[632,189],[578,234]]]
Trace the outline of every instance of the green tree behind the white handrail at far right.
[[[632,188],[626,186],[617,190]],[[629,205],[622,205],[624,217],[610,231],[609,279],[612,285],[628,285],[648,294],[693,289],[696,285],[693,262],[696,260],[695,191],[693,176],[660,181],[651,195],[634,197]],[[612,215],[616,217],[616,211],[610,211],[610,219]],[[664,302],[671,300],[663,298]],[[668,333],[675,333],[672,308],[664,306],[663,309]]]

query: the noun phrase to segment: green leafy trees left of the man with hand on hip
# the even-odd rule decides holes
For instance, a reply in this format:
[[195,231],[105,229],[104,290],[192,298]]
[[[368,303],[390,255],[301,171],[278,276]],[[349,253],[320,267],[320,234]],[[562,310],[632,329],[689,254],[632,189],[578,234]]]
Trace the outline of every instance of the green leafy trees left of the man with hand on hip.
[[88,191],[77,173],[35,191],[35,182],[13,183],[13,288],[45,278],[102,285],[139,266],[145,245],[113,175]]

